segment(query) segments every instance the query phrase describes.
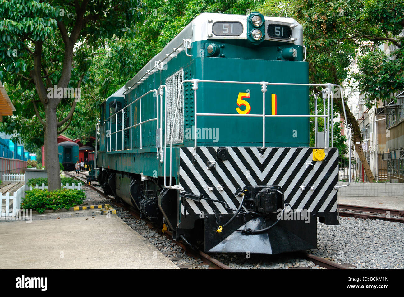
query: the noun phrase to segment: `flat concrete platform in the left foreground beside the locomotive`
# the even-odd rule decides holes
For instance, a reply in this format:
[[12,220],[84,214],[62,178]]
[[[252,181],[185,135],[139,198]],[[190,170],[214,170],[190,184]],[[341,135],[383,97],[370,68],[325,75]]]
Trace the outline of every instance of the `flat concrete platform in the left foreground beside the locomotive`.
[[179,269],[114,214],[3,222],[0,259],[1,269]]

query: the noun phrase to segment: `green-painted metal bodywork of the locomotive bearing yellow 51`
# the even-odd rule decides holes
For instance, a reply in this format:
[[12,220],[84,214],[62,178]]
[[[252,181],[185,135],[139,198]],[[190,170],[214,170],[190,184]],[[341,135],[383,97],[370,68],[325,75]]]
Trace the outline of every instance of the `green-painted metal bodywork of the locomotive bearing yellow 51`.
[[[214,43],[220,48],[217,57],[206,57],[208,44]],[[292,51],[297,55],[293,61],[284,59],[282,51]],[[100,126],[100,149],[97,164],[103,168],[129,173],[143,173],[148,176],[163,176],[164,165],[157,159],[156,149],[156,120],[142,124],[142,149],[140,148],[140,127],[111,135],[107,140],[106,133],[111,133],[130,125],[130,111],[117,117],[117,123],[109,124],[107,119],[114,112],[114,100],[121,108],[133,102],[146,92],[158,89],[166,83],[166,78],[183,68],[184,80],[226,80],[247,82],[277,82],[277,83],[308,83],[308,63],[303,60],[301,46],[286,42],[264,41],[261,44],[251,44],[247,40],[203,40],[194,42],[191,46],[191,57],[184,51],[171,59],[166,70],[160,70],[149,76],[125,97],[112,97],[103,103]],[[288,57],[288,55],[285,55]],[[229,113],[237,114],[236,107],[238,93],[249,92],[246,98],[251,106],[250,114],[262,114],[263,93],[260,85],[227,84],[201,82],[197,91],[198,113]],[[277,97],[277,114],[308,114],[309,97],[307,86],[268,86],[265,98],[265,113],[271,114],[271,94]],[[158,100],[158,102],[157,102]],[[141,111],[139,106],[141,101]],[[132,123],[160,116],[157,114],[157,104],[160,97],[149,93],[132,104]],[[163,97],[163,148],[164,148],[164,97]],[[240,107],[244,109],[244,107]],[[119,106],[118,106],[119,110]],[[140,118],[141,115],[141,118]],[[123,117],[123,118],[122,118]],[[121,120],[119,119],[121,118]],[[184,84],[184,141],[173,144],[173,176],[178,175],[179,150],[181,146],[193,146],[191,133],[194,126],[194,90],[192,83]],[[215,138],[197,139],[198,146],[261,146],[262,145],[262,117],[219,117],[198,116],[197,128],[215,129]],[[217,129],[216,129],[217,128]],[[209,132],[209,131],[208,131]],[[212,135],[213,136],[213,135]],[[112,151],[107,152],[111,147]],[[266,118],[265,120],[266,146],[309,146],[309,118]],[[177,148],[176,148],[177,147]],[[122,150],[123,149],[123,150]],[[169,174],[169,145],[166,153],[166,175]]]

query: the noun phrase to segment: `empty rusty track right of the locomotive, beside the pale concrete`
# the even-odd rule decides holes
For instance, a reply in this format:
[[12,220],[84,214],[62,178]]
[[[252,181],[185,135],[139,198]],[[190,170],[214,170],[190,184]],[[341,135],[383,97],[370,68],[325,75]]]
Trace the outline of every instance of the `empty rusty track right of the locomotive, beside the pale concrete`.
[[338,204],[338,214],[341,217],[379,219],[383,221],[404,223],[404,211],[397,209],[382,209],[377,207]]

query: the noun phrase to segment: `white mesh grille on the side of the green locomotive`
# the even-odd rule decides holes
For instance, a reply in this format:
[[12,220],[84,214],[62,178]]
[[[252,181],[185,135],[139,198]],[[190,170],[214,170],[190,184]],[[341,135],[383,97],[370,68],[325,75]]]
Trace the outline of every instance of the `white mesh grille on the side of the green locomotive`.
[[174,123],[175,108],[177,107],[178,92],[180,91],[180,84],[183,81],[184,69],[181,68],[172,76],[166,79],[167,86],[167,118],[166,118],[166,135],[167,143],[170,143],[171,131],[173,133],[173,143],[181,143],[184,140],[184,90],[181,88],[181,95],[179,97],[177,118]]

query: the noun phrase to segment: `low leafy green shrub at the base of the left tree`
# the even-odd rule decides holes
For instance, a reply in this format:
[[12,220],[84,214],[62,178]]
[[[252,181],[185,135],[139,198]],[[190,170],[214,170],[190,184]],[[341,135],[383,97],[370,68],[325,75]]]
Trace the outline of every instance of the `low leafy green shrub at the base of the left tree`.
[[69,209],[82,204],[86,199],[83,190],[59,189],[54,191],[34,189],[25,192],[21,202],[21,209],[33,209],[43,213],[46,209]]

